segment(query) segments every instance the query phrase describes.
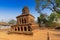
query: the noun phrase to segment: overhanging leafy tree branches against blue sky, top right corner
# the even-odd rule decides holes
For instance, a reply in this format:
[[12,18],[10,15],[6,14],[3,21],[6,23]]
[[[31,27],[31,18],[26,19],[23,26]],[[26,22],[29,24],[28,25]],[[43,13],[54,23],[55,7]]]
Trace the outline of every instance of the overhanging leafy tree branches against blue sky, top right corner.
[[45,8],[60,14],[60,0],[36,0],[36,10],[38,13],[41,13]]

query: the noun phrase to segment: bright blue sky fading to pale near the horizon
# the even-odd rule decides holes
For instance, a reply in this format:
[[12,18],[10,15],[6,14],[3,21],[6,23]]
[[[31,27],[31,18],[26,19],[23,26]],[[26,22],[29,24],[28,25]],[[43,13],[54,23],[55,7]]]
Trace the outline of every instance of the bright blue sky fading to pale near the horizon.
[[[24,6],[29,8],[30,13],[37,20],[39,13],[35,10],[35,0],[0,0],[0,21],[16,19],[16,16],[21,15]],[[45,9],[42,12],[47,15],[51,13],[49,9]]]

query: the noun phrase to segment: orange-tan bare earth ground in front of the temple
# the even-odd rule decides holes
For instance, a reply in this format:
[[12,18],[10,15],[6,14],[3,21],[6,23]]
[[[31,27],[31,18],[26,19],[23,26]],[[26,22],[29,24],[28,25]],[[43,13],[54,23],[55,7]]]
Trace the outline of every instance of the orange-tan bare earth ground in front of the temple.
[[48,29],[33,30],[33,35],[7,34],[6,31],[0,31],[0,40],[47,40],[47,32],[50,40],[60,40],[60,31]]

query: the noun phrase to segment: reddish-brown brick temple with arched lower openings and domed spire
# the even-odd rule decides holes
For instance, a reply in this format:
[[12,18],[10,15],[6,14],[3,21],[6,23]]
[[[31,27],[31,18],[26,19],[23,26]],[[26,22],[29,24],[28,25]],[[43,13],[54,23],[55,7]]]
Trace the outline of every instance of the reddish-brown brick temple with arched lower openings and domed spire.
[[32,34],[32,30],[37,29],[38,25],[34,21],[34,16],[29,12],[28,7],[22,9],[22,14],[17,16],[16,25],[11,26],[10,32]]

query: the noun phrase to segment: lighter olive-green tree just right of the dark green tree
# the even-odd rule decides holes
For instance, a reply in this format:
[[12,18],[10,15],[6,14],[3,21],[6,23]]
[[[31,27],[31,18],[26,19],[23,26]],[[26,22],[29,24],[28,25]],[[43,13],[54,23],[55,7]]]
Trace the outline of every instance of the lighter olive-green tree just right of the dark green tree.
[[46,22],[46,26],[47,27],[55,27],[56,26],[55,25],[56,23],[54,22],[55,18],[56,18],[56,14],[55,13],[51,13],[50,16],[48,16],[48,20]]

